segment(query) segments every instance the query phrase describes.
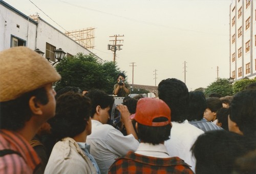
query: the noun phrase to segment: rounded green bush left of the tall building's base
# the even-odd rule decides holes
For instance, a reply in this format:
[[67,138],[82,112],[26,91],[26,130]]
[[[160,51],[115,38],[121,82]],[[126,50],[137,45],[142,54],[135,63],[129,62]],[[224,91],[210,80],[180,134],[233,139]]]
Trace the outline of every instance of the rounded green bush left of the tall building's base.
[[220,78],[207,86],[204,91],[206,97],[211,93],[219,93],[222,97],[231,96],[233,94],[232,85],[229,83],[228,79]]

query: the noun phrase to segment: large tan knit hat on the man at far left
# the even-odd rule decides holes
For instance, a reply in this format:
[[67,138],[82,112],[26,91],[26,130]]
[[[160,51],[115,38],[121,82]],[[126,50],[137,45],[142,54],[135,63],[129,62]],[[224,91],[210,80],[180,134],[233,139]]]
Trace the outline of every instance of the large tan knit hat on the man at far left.
[[27,47],[0,52],[0,102],[16,99],[59,79],[47,59]]

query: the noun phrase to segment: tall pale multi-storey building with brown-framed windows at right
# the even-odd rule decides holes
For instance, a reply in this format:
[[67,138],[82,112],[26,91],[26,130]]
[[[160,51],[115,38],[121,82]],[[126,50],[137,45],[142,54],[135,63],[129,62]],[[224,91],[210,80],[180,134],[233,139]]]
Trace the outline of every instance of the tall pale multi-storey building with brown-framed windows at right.
[[232,1],[229,12],[229,74],[234,80],[256,76],[256,1]]

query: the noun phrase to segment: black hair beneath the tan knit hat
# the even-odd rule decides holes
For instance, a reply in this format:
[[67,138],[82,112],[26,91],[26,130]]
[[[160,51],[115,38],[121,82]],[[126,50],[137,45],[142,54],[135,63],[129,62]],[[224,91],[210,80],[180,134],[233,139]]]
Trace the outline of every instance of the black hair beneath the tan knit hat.
[[32,117],[29,100],[33,96],[43,105],[49,102],[45,87],[25,93],[14,100],[0,102],[0,128],[13,131],[22,129]]

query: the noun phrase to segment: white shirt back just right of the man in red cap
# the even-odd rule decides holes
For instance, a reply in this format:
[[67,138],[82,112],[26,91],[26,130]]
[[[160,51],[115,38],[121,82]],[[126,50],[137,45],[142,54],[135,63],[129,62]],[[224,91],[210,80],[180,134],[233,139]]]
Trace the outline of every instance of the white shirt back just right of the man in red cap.
[[197,137],[203,134],[203,130],[188,123],[172,122],[173,127],[170,129],[170,139],[164,142],[170,157],[180,157],[195,172],[196,159],[190,151],[191,146],[197,140]]

